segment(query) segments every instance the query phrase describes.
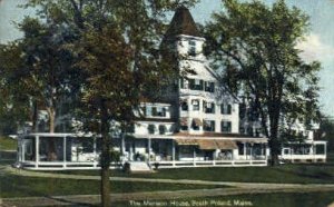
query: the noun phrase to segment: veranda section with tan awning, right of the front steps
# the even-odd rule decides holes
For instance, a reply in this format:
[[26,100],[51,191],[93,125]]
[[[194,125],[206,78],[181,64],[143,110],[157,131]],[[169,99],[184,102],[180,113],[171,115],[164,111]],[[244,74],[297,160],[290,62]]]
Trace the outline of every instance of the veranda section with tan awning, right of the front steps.
[[[266,138],[137,136],[126,142],[129,141],[134,146],[131,154],[139,152],[144,158],[139,161],[160,168],[267,165]],[[129,157],[129,161],[136,159]]]

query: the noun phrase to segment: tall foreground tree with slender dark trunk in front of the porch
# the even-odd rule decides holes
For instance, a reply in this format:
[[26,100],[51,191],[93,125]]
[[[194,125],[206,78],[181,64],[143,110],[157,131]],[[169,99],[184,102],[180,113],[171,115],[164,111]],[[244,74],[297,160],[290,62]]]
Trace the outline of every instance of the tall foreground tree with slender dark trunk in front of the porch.
[[[40,18],[66,24],[78,37],[69,43],[76,66],[86,77],[81,82],[86,124],[102,139],[101,199],[110,206],[109,165],[110,124],[130,124],[143,96],[153,96],[174,72],[161,58],[159,42],[164,33],[165,12],[196,0],[31,0]],[[149,89],[149,90],[148,90]],[[82,111],[82,110],[81,110]]]

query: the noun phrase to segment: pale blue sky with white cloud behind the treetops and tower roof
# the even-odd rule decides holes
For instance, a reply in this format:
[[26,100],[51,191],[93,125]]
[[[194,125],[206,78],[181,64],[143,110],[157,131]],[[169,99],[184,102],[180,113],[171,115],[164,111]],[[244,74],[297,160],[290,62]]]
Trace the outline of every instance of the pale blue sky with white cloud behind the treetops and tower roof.
[[[19,22],[24,16],[33,14],[32,10],[17,8],[27,0],[0,0],[0,43],[21,37],[13,22]],[[272,4],[275,0],[262,0]],[[310,16],[310,32],[305,41],[298,45],[305,61],[318,60],[322,63],[320,72],[320,102],[322,111],[334,116],[334,0],[286,0],[287,4],[297,7]],[[198,23],[210,20],[213,12],[222,10],[220,0],[202,0],[190,12]]]

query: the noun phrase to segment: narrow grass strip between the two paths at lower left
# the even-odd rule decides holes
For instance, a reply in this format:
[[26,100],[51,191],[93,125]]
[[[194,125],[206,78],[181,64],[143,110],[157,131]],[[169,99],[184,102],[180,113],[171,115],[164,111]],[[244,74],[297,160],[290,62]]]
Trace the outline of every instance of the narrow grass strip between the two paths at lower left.
[[[62,196],[62,195],[98,195],[98,180],[76,180],[56,178],[35,178],[12,175],[0,175],[0,197],[29,197],[29,196]],[[156,191],[223,188],[223,186],[131,183],[112,181],[111,193]]]

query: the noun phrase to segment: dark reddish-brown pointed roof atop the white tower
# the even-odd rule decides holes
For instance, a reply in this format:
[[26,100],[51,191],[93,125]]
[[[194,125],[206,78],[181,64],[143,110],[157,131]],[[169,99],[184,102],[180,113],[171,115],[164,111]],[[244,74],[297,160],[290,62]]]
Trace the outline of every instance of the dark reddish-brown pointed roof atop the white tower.
[[176,9],[166,32],[166,37],[175,37],[178,34],[200,37],[197,26],[186,7],[179,7]]

